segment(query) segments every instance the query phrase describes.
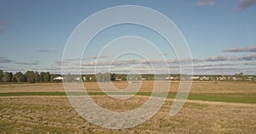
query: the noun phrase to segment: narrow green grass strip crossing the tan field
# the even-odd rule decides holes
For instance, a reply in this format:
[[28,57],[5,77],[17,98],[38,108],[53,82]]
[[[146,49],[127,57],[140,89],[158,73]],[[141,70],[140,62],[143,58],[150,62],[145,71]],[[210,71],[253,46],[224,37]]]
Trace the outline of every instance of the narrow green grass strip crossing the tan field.
[[[106,95],[104,92],[88,92],[90,96]],[[68,96],[84,96],[88,95],[84,92],[67,92]],[[132,95],[132,92],[108,92],[112,95]],[[137,92],[138,96],[151,96],[151,92]],[[66,92],[0,92],[0,97],[11,96],[66,96]],[[164,93],[154,93],[154,97],[165,97]],[[175,98],[175,94],[168,94],[167,98]],[[255,94],[189,94],[191,100],[203,100],[213,102],[227,102],[227,103],[256,103]]]

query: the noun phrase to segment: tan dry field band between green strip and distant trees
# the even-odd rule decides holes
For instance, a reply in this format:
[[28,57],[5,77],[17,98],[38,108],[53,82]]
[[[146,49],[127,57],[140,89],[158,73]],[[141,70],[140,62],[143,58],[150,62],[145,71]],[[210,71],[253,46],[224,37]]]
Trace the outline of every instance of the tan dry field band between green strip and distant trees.
[[[128,86],[128,82],[113,82],[120,90]],[[170,92],[177,92],[179,82],[171,82]],[[85,82],[88,92],[102,92],[96,82]],[[139,92],[152,92],[154,81],[143,81]],[[6,84],[0,85],[0,92],[64,92],[62,83]],[[256,82],[193,82],[190,93],[256,93]]]

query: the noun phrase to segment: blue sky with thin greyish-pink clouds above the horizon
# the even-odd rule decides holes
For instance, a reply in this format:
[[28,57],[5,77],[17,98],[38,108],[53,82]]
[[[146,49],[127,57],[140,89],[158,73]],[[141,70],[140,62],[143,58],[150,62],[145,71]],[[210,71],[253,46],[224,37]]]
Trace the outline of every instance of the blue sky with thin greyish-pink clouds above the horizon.
[[[256,75],[256,0],[1,0],[0,70],[61,74],[61,64],[73,64],[73,70],[82,65],[84,74],[108,70],[144,74],[154,72],[150,60],[178,73],[178,61],[185,59],[177,59],[163,36],[134,24],[100,31],[81,53],[82,60],[62,61],[69,37],[83,20],[121,5],[152,8],[172,20],[188,44],[195,75]],[[122,45],[114,49],[117,44]],[[162,64],[163,59],[167,64]]]

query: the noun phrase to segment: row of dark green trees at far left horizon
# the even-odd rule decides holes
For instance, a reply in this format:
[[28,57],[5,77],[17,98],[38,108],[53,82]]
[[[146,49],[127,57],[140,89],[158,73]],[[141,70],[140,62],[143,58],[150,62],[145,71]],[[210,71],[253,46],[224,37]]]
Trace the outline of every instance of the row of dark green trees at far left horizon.
[[41,72],[27,70],[25,74],[22,72],[16,72],[15,75],[12,72],[3,72],[0,70],[0,81],[5,82],[50,82],[56,75],[49,74],[49,72]]

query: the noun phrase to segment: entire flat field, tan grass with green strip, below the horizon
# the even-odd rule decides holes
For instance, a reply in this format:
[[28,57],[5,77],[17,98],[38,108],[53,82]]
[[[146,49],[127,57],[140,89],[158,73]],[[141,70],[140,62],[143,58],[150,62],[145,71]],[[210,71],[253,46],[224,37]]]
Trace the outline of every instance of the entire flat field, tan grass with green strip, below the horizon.
[[[129,84],[113,85],[122,90]],[[0,84],[0,133],[256,133],[255,82],[195,81],[183,109],[170,116],[178,85],[172,81],[166,102],[152,118],[113,130],[84,120],[68,102],[62,83]],[[129,111],[148,100],[154,81],[143,81],[127,100],[106,96],[96,82],[84,87],[102,108]]]

